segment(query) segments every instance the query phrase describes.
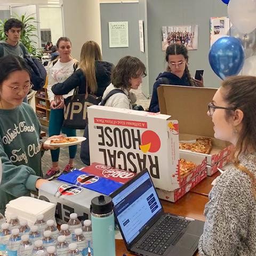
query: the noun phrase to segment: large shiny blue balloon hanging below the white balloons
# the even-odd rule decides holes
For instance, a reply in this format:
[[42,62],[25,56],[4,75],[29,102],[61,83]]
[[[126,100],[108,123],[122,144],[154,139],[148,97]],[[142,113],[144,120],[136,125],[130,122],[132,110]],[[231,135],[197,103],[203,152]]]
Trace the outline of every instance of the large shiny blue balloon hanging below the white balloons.
[[221,79],[237,75],[244,65],[244,48],[241,41],[232,36],[219,38],[211,47],[209,62]]

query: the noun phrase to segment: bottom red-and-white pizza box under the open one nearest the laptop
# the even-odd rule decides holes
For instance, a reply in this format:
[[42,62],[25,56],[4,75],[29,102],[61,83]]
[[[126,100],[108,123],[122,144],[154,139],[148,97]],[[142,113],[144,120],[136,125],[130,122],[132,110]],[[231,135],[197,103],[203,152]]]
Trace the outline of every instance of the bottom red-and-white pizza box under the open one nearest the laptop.
[[175,203],[182,196],[190,191],[190,189],[194,188],[200,181],[202,181],[207,176],[207,169],[205,168],[203,171],[198,173],[193,179],[191,179],[185,186],[175,189],[174,191],[166,191],[163,189],[156,189],[159,198],[164,199],[166,201]]

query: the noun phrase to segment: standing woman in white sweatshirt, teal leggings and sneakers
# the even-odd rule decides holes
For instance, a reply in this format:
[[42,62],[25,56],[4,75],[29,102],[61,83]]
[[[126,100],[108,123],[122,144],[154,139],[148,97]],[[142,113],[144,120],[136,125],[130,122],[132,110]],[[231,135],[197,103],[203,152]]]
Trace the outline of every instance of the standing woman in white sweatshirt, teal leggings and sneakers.
[[[49,136],[59,135],[60,132],[67,134],[67,137],[76,136],[76,130],[63,127],[64,121],[64,99],[73,95],[74,90],[69,93],[56,97],[52,92],[52,85],[64,82],[71,76],[78,68],[78,61],[71,56],[71,41],[68,37],[60,37],[57,42],[59,57],[51,61],[48,65],[48,85],[47,94],[50,101],[50,122],[49,122]],[[66,165],[63,173],[67,173],[74,169],[74,158],[76,156],[77,146],[69,147],[69,162]],[[61,172],[59,169],[59,155],[60,149],[51,150],[52,167],[46,172],[45,178],[52,180],[58,177]]]

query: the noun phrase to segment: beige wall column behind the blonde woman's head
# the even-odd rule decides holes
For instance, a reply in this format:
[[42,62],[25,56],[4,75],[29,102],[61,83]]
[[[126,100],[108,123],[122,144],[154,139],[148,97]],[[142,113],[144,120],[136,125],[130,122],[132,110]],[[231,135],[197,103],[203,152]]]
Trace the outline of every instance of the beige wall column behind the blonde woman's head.
[[63,0],[63,21],[64,35],[70,38],[77,60],[86,41],[93,40],[101,47],[99,0]]

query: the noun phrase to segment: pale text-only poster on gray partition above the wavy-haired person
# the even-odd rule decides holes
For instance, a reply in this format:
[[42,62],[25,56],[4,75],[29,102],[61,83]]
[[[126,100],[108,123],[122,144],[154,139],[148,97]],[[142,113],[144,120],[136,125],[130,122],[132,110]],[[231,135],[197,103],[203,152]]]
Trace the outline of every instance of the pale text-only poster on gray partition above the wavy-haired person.
[[128,21],[108,22],[109,47],[129,47]]

